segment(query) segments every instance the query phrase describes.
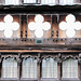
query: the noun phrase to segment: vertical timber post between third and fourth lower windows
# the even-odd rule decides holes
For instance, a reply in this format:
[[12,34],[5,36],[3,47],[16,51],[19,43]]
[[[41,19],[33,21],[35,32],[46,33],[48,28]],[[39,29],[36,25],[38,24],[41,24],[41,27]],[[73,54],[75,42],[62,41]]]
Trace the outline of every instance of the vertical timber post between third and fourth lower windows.
[[58,59],[57,59],[57,75],[58,75],[58,81],[62,81],[62,55],[60,53],[58,54]]

